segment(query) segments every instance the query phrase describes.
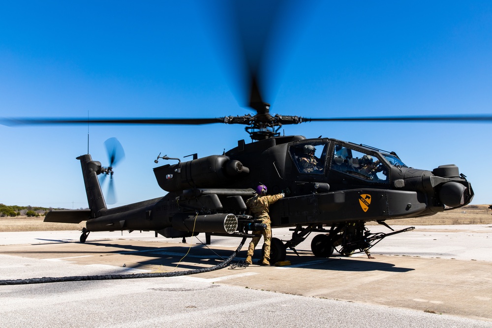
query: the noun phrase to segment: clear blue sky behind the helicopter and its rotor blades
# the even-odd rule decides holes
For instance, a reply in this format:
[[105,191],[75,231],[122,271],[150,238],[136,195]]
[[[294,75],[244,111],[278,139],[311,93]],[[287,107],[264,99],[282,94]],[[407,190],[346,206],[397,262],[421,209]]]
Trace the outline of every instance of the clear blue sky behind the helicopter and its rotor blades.
[[[492,2],[307,3],[296,15],[279,15],[280,33],[267,42],[271,113],[492,114]],[[221,2],[10,1],[0,8],[0,117],[251,113],[238,91]],[[456,164],[472,182],[473,204],[492,204],[491,127],[316,122],[284,130],[393,150],[420,169]],[[152,171],[159,152],[207,156],[248,140],[243,126],[225,124],[89,130],[90,153],[103,165],[106,139],[125,149],[115,206],[165,194]],[[87,207],[75,160],[87,152],[87,132],[84,125],[0,125],[0,203]]]

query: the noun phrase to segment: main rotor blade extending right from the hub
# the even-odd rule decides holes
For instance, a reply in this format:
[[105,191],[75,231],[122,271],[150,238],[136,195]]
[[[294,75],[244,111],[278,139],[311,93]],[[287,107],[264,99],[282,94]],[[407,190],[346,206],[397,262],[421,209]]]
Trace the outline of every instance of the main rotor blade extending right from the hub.
[[388,117],[354,117],[354,118],[301,118],[302,122],[333,122],[333,121],[401,121],[401,122],[492,122],[492,114],[449,115],[449,116],[388,116]]

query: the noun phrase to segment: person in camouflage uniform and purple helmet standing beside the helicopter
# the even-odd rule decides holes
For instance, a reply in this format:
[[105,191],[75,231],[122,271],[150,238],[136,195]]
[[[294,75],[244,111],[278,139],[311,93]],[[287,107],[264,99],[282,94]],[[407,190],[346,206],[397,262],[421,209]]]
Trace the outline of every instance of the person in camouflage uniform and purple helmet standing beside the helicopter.
[[251,257],[253,256],[254,248],[260,241],[261,235],[263,234],[264,239],[264,254],[263,261],[261,264],[265,266],[270,265],[270,241],[272,239],[272,229],[270,227],[270,215],[268,215],[270,205],[277,202],[280,198],[284,197],[285,194],[277,194],[267,196],[267,187],[263,184],[260,184],[256,187],[256,195],[246,201],[247,207],[250,209],[251,214],[254,216],[256,220],[261,220],[261,223],[264,223],[267,227],[265,230],[261,231],[253,231],[254,235],[258,235],[257,237],[253,237],[251,242],[249,243],[249,248],[247,250],[246,263],[252,264]]

